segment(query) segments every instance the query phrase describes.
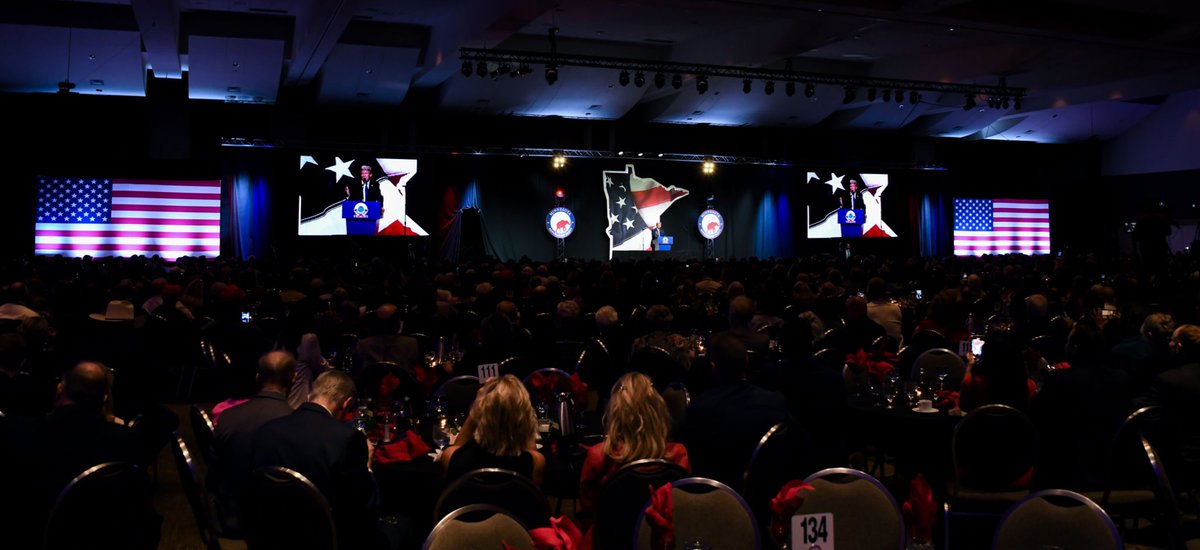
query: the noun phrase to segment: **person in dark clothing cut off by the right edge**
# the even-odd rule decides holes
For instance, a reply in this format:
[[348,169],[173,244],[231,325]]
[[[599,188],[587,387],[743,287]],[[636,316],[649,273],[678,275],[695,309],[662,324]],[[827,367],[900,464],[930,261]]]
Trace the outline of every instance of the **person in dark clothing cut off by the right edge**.
[[1175,329],[1171,347],[1183,365],[1156,376],[1136,405],[1163,407],[1165,424],[1157,429],[1168,436],[1165,454],[1171,483],[1176,484],[1176,490],[1195,490],[1200,485],[1200,423],[1196,423],[1200,418],[1200,327],[1184,324]]

